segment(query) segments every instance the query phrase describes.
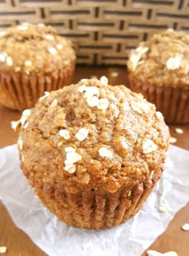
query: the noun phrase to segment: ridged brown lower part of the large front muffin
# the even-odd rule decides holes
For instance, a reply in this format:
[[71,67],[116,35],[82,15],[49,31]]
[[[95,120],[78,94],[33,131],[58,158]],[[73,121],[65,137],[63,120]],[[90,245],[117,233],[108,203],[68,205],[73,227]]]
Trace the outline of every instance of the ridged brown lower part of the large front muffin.
[[159,168],[152,180],[120,188],[115,193],[91,189],[70,194],[64,188],[36,186],[31,180],[30,184],[35,186],[42,204],[66,224],[82,229],[107,229],[124,223],[138,213],[161,172]]

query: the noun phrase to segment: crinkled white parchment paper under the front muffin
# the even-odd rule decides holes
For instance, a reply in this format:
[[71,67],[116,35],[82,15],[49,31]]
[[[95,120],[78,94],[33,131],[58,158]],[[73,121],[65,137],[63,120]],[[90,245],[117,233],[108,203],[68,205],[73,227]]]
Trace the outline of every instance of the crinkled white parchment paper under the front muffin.
[[[15,145],[0,150],[0,196],[15,225],[50,256],[139,256],[189,200],[189,151],[170,147],[163,177],[143,209],[115,229],[87,231],[58,221],[22,175]],[[165,205],[170,210],[163,213]]]

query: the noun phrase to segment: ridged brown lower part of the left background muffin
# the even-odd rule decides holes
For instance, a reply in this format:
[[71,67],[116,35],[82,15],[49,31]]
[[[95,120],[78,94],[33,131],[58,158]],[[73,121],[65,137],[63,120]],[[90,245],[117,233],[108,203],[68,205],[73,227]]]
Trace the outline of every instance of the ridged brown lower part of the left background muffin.
[[10,109],[30,109],[44,92],[61,89],[69,85],[74,73],[74,63],[69,69],[53,74],[31,74],[21,72],[0,72],[0,103]]

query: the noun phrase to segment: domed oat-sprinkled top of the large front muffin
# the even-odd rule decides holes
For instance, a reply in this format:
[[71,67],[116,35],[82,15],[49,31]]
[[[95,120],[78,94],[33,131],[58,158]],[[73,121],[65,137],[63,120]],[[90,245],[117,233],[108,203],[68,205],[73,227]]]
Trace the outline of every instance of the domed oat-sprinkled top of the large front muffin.
[[103,76],[46,93],[20,124],[18,150],[30,183],[68,192],[150,179],[166,157],[169,131],[141,94]]

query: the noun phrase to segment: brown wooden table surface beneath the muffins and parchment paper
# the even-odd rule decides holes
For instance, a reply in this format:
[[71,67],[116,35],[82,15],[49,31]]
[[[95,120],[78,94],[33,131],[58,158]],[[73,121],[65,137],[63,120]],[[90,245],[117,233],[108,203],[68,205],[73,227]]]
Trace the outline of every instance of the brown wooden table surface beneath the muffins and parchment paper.
[[[77,67],[73,82],[77,82],[82,78],[90,78],[90,76],[107,76],[110,85],[127,85],[127,76],[125,68],[86,68]],[[18,120],[21,113],[6,109],[0,106],[0,147],[6,147],[17,141],[18,134],[10,129],[10,121]],[[183,134],[175,132],[175,128],[182,128]],[[170,126],[171,136],[177,138],[175,145],[189,150],[189,125]],[[19,214],[19,213],[18,213]],[[151,245],[151,250],[158,250],[165,253],[175,250],[179,256],[188,256],[189,232],[184,232],[181,227],[184,223],[189,222],[189,204],[181,209],[175,215],[175,218],[168,225],[167,230],[157,237]],[[40,250],[30,238],[21,229],[18,229],[11,220],[9,213],[0,201],[0,246],[6,246],[7,256],[44,256],[46,255]],[[55,248],[54,248],[55,250]],[[143,256],[147,255],[146,252]],[[66,256],[66,255],[64,255]],[[77,255],[76,255],[77,256]],[[89,255],[90,256],[90,255]],[[124,255],[127,256],[127,255]]]

